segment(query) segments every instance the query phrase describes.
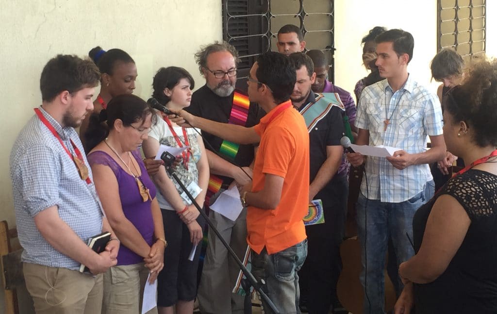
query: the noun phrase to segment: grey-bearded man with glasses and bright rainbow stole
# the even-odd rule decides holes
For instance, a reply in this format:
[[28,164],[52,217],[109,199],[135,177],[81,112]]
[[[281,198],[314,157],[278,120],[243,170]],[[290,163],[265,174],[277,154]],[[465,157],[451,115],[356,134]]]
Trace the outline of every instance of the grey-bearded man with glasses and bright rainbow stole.
[[[252,127],[265,114],[258,105],[250,103],[248,96],[235,90],[238,52],[232,45],[222,42],[202,47],[195,54],[205,85],[195,91],[186,110],[193,115],[222,123]],[[208,132],[205,140],[211,177],[206,206],[231,184],[245,185],[251,178],[254,145],[238,145]],[[212,146],[212,147],[211,147]],[[212,152],[214,149],[216,152]],[[231,163],[219,156],[221,154]],[[240,259],[247,250],[247,209],[236,221],[210,211],[209,219]],[[198,291],[200,310],[204,314],[243,313],[244,298],[232,293],[240,269],[214,233],[208,233],[208,245]]]

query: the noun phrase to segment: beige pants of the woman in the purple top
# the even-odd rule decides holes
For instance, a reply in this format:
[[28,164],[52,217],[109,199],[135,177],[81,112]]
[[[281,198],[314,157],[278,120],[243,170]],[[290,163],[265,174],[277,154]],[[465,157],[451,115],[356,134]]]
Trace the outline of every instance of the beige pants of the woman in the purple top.
[[[142,313],[148,275],[149,269],[144,263],[111,267],[103,275],[102,314]],[[157,307],[147,314],[157,314]]]

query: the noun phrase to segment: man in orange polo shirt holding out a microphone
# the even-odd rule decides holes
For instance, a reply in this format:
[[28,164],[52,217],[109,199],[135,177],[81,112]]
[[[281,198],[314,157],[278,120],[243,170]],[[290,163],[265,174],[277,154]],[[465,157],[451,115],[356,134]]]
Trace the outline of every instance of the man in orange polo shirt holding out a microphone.
[[253,184],[241,187],[240,195],[248,207],[252,273],[264,279],[268,297],[280,313],[300,313],[297,271],[307,255],[302,219],[309,205],[309,133],[290,100],[295,78],[285,55],[267,52],[257,58],[248,76],[248,97],[267,114],[251,128],[178,112],[191,126],[228,141],[260,142]]

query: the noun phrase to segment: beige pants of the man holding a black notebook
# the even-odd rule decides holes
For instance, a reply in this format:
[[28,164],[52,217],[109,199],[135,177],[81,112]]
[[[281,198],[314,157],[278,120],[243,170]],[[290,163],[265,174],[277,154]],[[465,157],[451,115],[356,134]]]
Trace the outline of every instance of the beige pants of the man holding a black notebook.
[[102,274],[23,264],[26,288],[36,314],[95,314],[102,307]]

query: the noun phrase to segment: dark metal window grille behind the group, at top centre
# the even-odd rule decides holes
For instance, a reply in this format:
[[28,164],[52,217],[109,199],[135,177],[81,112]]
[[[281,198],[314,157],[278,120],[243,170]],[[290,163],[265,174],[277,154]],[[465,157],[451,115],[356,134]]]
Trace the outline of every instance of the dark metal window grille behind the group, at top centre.
[[281,26],[300,27],[306,50],[319,49],[330,60],[333,81],[333,0],[223,0],[223,39],[239,52],[237,87],[246,89],[246,78],[257,56],[276,49]]

